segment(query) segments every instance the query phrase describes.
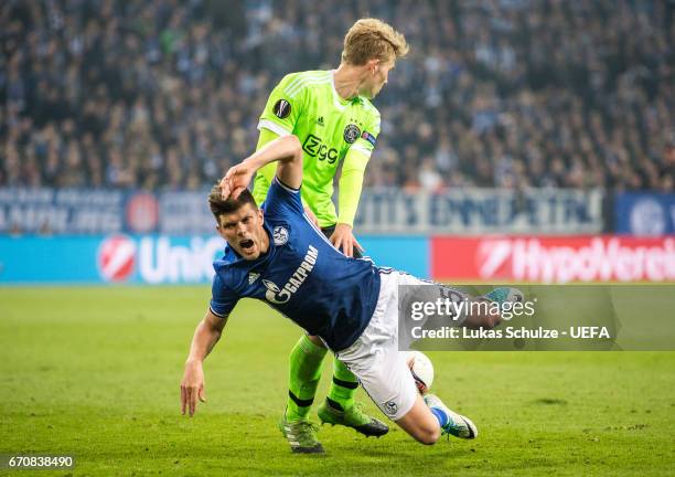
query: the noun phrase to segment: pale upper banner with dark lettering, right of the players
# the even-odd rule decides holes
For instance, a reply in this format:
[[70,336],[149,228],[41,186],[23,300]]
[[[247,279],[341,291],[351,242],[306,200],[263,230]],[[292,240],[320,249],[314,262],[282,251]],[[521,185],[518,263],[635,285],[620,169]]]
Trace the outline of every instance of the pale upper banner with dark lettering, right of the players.
[[602,230],[602,192],[371,189],[363,193],[354,226],[358,233],[597,233]]

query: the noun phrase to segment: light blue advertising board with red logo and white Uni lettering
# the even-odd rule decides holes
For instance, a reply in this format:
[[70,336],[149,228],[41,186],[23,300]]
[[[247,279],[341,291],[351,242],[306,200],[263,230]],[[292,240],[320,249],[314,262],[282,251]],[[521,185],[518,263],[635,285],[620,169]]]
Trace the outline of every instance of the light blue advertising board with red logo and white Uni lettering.
[[[364,236],[382,266],[429,275],[429,240]],[[207,284],[225,242],[195,235],[0,235],[0,286],[9,284]],[[406,253],[401,254],[400,251]]]

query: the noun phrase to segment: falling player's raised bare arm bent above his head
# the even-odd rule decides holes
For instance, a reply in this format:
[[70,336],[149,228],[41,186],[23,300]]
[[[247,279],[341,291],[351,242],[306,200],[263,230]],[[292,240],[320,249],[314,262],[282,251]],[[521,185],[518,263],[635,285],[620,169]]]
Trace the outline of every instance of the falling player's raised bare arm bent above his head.
[[302,183],[302,146],[297,136],[290,135],[275,139],[231,168],[221,180],[223,198],[238,198],[256,171],[275,161],[279,161],[279,180],[290,188],[299,189]]

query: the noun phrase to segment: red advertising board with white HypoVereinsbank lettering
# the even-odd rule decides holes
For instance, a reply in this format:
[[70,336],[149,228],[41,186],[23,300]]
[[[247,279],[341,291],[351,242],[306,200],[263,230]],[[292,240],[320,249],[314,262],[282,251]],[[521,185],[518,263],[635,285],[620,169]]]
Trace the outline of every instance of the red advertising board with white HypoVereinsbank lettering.
[[431,239],[437,280],[672,282],[675,235],[495,236]]

